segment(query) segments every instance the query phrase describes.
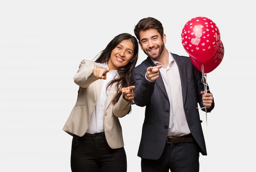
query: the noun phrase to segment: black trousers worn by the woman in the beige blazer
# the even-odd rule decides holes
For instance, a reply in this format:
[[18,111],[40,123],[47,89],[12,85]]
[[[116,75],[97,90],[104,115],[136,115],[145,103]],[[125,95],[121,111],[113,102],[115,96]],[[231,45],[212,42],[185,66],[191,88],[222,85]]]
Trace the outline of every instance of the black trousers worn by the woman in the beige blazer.
[[73,136],[71,149],[72,172],[126,172],[124,147],[112,149],[104,133]]

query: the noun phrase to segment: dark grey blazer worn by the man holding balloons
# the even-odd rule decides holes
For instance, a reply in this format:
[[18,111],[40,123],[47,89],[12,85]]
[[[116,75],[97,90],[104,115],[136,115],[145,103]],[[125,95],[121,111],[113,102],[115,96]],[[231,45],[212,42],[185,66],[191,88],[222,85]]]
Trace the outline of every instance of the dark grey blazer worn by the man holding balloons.
[[[204,107],[200,94],[200,91],[204,91],[204,85],[201,82],[202,73],[193,66],[189,57],[172,55],[180,72],[183,105],[189,129],[202,155],[207,155],[202,121],[197,109],[198,103],[200,107]],[[132,81],[135,85],[134,102],[140,107],[146,106],[138,156],[145,159],[159,159],[166,144],[170,104],[161,75],[153,83],[146,80],[145,74],[149,66],[155,66],[155,64],[148,57],[132,72]],[[213,107],[214,102],[207,112],[210,112]],[[204,109],[202,110],[204,111]]]

